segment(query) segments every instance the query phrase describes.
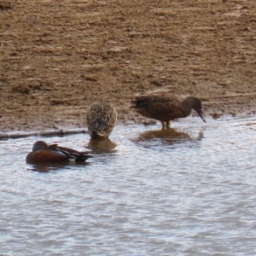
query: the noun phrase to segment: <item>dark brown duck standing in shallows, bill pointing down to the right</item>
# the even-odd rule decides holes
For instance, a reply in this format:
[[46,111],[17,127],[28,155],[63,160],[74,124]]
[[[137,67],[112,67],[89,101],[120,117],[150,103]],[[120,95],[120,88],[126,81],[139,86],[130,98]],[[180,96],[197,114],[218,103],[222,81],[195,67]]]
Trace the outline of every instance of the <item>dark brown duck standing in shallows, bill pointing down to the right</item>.
[[137,113],[150,119],[160,120],[163,129],[170,127],[171,120],[187,117],[192,108],[206,122],[201,111],[201,101],[193,96],[189,96],[183,101],[166,94],[137,96],[131,101],[131,104],[131,108],[134,108]]

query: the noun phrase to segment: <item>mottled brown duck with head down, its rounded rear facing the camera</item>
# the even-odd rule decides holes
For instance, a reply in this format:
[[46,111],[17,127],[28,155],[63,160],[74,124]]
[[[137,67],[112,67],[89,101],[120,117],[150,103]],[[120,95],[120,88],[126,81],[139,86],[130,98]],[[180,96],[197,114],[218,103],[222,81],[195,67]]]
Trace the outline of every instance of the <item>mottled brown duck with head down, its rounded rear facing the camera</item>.
[[92,139],[108,138],[117,122],[113,104],[104,100],[94,102],[86,115],[88,133]]

